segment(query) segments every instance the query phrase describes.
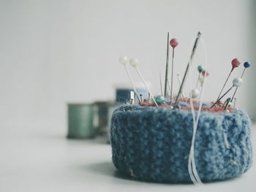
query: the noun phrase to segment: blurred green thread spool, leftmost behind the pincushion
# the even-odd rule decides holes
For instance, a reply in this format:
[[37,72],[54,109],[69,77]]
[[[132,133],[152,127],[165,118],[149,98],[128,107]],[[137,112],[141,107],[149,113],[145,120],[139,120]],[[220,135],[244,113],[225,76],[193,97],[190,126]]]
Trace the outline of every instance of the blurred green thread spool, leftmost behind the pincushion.
[[68,104],[67,138],[92,138],[94,129],[94,104]]

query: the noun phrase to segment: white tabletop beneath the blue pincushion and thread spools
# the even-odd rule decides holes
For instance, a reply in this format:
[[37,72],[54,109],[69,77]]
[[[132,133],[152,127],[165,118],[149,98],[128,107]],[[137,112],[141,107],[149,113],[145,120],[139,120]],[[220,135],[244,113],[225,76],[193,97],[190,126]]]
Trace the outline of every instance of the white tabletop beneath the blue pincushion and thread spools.
[[[256,126],[252,142],[256,143]],[[111,161],[103,138],[66,139],[64,128],[1,126],[0,191],[255,191],[256,166],[234,180],[169,185],[130,180]]]

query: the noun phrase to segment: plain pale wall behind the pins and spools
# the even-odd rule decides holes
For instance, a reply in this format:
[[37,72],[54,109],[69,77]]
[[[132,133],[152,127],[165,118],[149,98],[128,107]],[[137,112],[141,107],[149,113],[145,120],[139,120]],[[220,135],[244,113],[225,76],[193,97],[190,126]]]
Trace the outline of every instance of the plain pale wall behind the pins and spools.
[[[164,78],[166,37],[176,37],[176,72],[184,73],[197,31],[203,34],[210,76],[205,100],[216,99],[230,61],[253,63],[253,1],[45,0],[0,1],[0,121],[45,123],[66,131],[67,102],[113,100],[116,82],[129,82],[120,55],[140,60],[152,91]],[[202,44],[185,92],[204,64]],[[242,66],[234,71],[240,76]],[[139,80],[134,70],[130,72]],[[238,90],[238,106],[254,115],[253,67]],[[177,79],[175,91],[177,91]],[[227,88],[231,85],[227,83]]]

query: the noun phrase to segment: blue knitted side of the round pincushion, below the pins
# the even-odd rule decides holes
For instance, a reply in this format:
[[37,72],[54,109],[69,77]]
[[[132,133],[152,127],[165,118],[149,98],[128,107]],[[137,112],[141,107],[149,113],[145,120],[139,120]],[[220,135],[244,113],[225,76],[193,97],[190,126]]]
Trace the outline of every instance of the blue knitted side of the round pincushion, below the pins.
[[[191,183],[188,158],[192,125],[192,113],[187,110],[118,107],[113,112],[110,130],[113,164],[138,180]],[[195,164],[203,182],[238,177],[249,169],[250,126],[242,110],[201,112],[195,138]]]

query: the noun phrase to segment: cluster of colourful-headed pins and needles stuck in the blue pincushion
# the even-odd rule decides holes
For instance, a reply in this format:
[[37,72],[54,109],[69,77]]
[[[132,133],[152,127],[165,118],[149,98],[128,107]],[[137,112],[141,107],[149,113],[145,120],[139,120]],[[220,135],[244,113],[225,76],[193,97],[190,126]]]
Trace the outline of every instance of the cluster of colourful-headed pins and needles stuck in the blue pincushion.
[[[121,56],[119,58],[119,62],[124,66],[124,69],[127,72],[127,75],[129,77],[129,80],[132,84],[132,88],[133,91],[130,92],[130,104],[134,104],[135,103],[135,97],[136,99],[139,101],[140,105],[143,106],[157,106],[159,107],[159,105],[165,105],[168,106],[170,108],[179,108],[179,102],[180,101],[185,101],[187,103],[189,103],[189,101],[198,101],[200,99],[200,96],[202,94],[202,90],[203,90],[203,83],[205,82],[206,77],[208,77],[209,73],[208,71],[206,71],[206,69],[204,68],[204,66],[197,66],[197,71],[199,72],[198,77],[197,77],[197,82],[195,85],[195,88],[193,88],[190,92],[189,92],[189,99],[185,98],[184,96],[184,85],[187,79],[187,75],[189,73],[189,69],[190,66],[192,65],[192,60],[193,57],[195,55],[195,50],[197,49],[197,44],[199,42],[200,39],[200,31],[198,31],[197,33],[197,37],[195,39],[195,43],[194,46],[192,48],[192,53],[189,57],[189,62],[187,64],[187,68],[184,72],[184,76],[181,80],[180,78],[180,74],[177,74],[178,77],[178,82],[179,82],[179,89],[178,89],[178,94],[177,96],[173,96],[173,72],[174,72],[174,53],[175,53],[175,48],[178,46],[178,41],[177,39],[169,39],[169,33],[167,33],[167,55],[166,55],[166,65],[165,65],[165,87],[164,89],[162,88],[162,77],[161,77],[161,73],[159,73],[159,79],[160,79],[160,88],[161,88],[161,95],[159,96],[153,96],[150,88],[148,87],[146,80],[143,78],[143,75],[140,72],[139,69],[139,61],[137,58],[130,58],[128,59],[126,56]],[[172,58],[171,58],[171,75],[170,75],[170,80],[169,80],[169,47],[172,47]],[[232,68],[230,70],[230,73],[227,76],[227,79],[225,80],[225,83],[219,93],[219,96],[217,97],[217,100],[211,105],[210,109],[213,108],[214,106],[218,106],[222,107],[223,110],[228,111],[227,108],[230,107],[234,101],[233,104],[233,108],[236,107],[236,91],[238,90],[238,87],[240,87],[243,83],[242,81],[242,77],[244,75],[245,69],[249,68],[250,64],[248,62],[244,63],[244,71],[241,74],[241,77],[237,77],[235,79],[233,79],[233,85],[224,93],[222,94],[222,91],[225,88],[225,85],[227,84],[227,81],[230,78],[230,74],[233,72],[234,69],[236,69],[238,66],[240,66],[241,62],[238,60],[238,58],[234,58],[233,61],[231,62],[232,64]],[[146,87],[146,90],[148,91],[148,99],[144,99],[143,100],[143,95],[139,95],[138,91],[135,88],[135,84],[132,80],[131,75],[129,74],[129,69],[128,69],[128,65],[132,66],[135,71],[138,73],[138,76],[140,77],[140,80],[142,80],[143,84]],[[225,103],[222,104],[221,99],[227,95],[227,93],[229,93],[233,88],[236,88],[236,90],[233,93],[233,96],[226,99]],[[170,97],[168,96],[168,90],[170,92]],[[153,101],[153,103],[152,103]]]

